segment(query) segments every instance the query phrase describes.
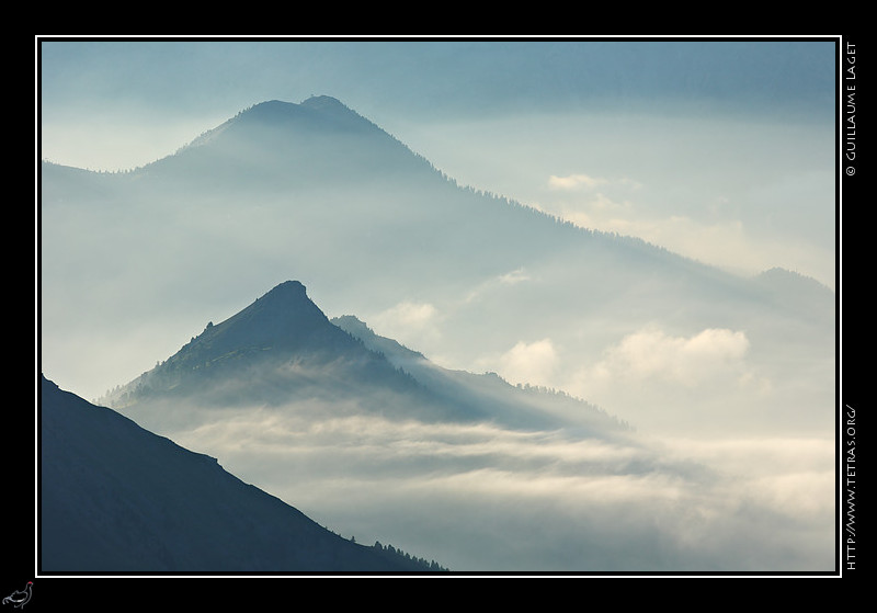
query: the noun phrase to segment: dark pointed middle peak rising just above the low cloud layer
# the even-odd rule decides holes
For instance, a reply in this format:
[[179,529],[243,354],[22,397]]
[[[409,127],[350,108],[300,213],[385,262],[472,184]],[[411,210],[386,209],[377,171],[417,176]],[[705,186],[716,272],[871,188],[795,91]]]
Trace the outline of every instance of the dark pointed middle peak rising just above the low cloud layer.
[[102,401],[132,411],[157,401],[277,406],[385,391],[406,398],[412,411],[434,408],[415,382],[330,323],[305,286],[287,281],[227,320],[208,322],[175,354]]

